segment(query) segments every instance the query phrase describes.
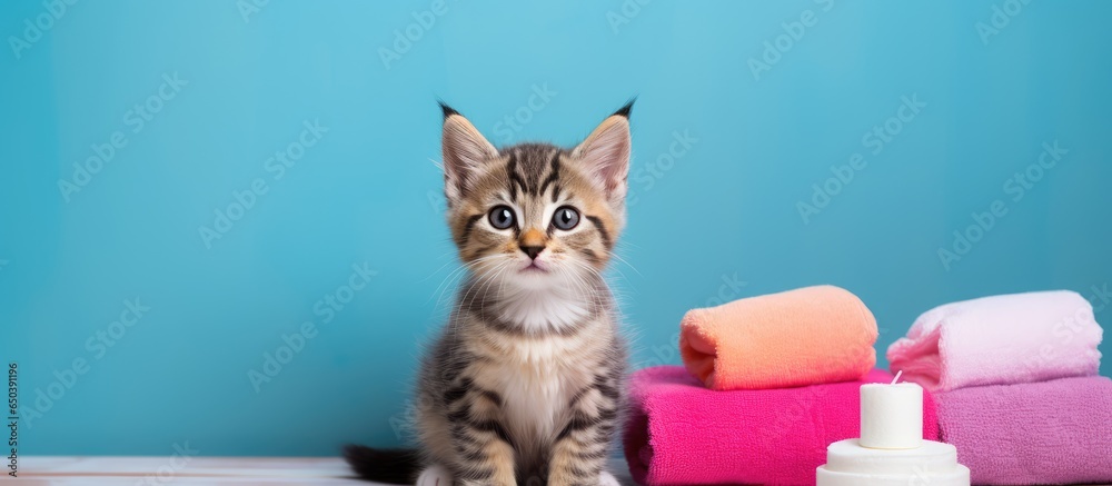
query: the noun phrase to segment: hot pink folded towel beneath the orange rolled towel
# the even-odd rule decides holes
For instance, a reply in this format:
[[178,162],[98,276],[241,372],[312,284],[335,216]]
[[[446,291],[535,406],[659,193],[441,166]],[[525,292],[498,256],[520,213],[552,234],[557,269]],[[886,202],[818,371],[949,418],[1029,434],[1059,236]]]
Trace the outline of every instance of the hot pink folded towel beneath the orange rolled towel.
[[[714,391],[678,366],[636,371],[625,455],[643,485],[814,485],[826,446],[860,434],[862,383]],[[923,435],[939,436],[934,401],[923,394]]]

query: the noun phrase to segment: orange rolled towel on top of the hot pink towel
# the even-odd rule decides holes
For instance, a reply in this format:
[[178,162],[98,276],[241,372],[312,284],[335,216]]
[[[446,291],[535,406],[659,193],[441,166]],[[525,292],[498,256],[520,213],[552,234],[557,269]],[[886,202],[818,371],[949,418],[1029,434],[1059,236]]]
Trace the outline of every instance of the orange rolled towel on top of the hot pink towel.
[[876,364],[876,318],[830,285],[689,310],[679,327],[684,366],[716,390],[850,381]]

